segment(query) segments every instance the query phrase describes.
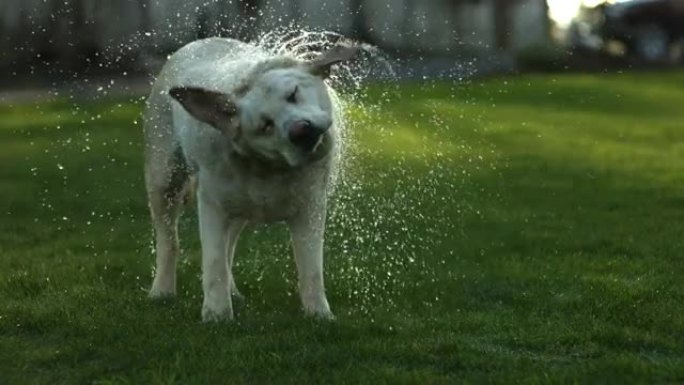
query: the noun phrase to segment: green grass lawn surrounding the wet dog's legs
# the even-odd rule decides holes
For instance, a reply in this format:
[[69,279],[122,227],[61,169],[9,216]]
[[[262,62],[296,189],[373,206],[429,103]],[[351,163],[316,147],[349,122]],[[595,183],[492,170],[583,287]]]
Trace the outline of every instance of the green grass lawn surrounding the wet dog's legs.
[[684,382],[683,85],[372,87],[327,230],[334,323],[302,315],[276,225],[241,239],[237,320],[202,324],[192,208],[179,296],[149,301],[140,100],[0,106],[0,384]]

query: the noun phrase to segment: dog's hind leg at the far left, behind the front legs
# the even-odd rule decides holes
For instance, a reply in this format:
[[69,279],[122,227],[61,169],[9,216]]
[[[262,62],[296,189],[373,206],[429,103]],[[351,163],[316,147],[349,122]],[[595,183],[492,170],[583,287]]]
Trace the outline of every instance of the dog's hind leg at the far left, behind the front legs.
[[[148,155],[145,182],[155,233],[156,270],[150,297],[176,293],[179,254],[178,216],[190,190],[190,177],[180,149],[170,156]],[[156,158],[156,159],[155,159]]]

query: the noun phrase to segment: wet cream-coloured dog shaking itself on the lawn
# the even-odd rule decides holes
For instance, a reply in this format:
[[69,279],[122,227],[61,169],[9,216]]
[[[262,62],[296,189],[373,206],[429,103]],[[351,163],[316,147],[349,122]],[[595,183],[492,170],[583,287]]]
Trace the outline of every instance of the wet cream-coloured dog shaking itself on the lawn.
[[287,223],[307,315],[333,319],[323,284],[338,109],[325,79],[359,49],[338,44],[311,60],[270,55],[233,39],[192,42],[166,62],[144,111],[145,186],[155,231],[149,295],[176,292],[178,217],[196,184],[202,319],[233,318],[232,266],[250,222]]

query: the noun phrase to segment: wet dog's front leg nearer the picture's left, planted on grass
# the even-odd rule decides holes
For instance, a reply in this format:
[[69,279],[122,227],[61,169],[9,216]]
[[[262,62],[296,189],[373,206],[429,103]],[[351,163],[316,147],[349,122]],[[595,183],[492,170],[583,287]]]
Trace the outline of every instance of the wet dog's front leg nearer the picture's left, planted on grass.
[[232,273],[226,259],[226,242],[231,223],[221,207],[198,194],[200,241],[202,243],[202,320],[233,318],[230,297]]

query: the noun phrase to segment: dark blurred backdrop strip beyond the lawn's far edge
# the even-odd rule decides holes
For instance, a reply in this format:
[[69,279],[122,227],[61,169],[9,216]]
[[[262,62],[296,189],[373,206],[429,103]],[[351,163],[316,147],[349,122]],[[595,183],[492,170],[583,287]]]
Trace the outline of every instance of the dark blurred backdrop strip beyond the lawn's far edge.
[[149,77],[194,39],[283,27],[378,46],[404,78],[684,61],[684,0],[2,0],[0,89]]

